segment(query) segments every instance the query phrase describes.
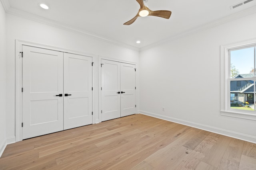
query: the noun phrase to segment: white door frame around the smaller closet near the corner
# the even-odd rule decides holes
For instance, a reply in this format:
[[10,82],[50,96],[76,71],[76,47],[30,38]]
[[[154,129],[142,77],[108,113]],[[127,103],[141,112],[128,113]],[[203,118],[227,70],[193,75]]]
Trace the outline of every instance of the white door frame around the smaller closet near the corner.
[[[98,92],[98,112],[99,112],[99,117],[98,117],[98,120],[99,122],[102,122],[102,118],[101,118],[101,104],[102,104],[102,101],[101,101],[101,60],[104,59],[104,60],[109,60],[109,61],[115,61],[115,62],[119,62],[119,63],[127,63],[127,64],[134,64],[135,65],[135,68],[137,69],[137,63],[133,63],[133,62],[129,62],[129,61],[125,61],[125,60],[118,60],[118,59],[113,59],[113,58],[110,58],[110,57],[103,57],[103,56],[98,56],[98,87],[99,87],[99,92]],[[135,86],[136,86],[136,99],[135,99],[135,102],[136,102],[136,114],[138,113],[139,111],[139,103],[138,103],[138,96],[139,96],[139,85],[138,85],[138,71],[136,70],[135,72]]]

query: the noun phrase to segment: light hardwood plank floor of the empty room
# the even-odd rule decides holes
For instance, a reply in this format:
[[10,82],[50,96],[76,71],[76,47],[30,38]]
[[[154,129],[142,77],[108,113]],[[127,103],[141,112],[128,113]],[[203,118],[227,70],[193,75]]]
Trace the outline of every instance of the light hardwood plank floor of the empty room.
[[256,170],[256,144],[146,115],[8,145],[1,170]]

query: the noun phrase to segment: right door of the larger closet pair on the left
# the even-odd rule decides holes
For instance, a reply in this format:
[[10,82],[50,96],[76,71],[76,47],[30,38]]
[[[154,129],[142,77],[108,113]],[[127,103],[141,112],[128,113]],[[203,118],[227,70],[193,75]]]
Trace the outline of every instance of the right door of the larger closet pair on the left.
[[64,53],[64,130],[92,124],[92,57]]

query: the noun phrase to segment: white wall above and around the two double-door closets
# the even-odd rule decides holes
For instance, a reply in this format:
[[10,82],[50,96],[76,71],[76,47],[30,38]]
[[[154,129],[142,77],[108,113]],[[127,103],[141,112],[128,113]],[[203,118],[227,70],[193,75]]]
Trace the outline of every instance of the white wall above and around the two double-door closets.
[[138,51],[6,14],[6,136],[9,141],[15,140],[15,39],[139,64]]

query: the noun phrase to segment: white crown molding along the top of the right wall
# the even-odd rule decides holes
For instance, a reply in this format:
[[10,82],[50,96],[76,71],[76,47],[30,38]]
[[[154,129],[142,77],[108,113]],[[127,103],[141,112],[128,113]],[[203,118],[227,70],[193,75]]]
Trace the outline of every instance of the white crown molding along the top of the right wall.
[[250,14],[253,14],[253,13],[256,13],[256,6],[254,7],[251,7],[251,8],[248,8],[246,10],[242,10],[240,12],[237,12],[235,14],[232,14],[232,15],[229,15],[229,16],[226,16],[224,18],[220,18],[218,20],[215,20],[215,21],[212,21],[210,23],[206,23],[204,25],[201,25],[201,26],[198,26],[198,27],[194,27],[193,29],[188,29],[187,31],[185,32],[182,32],[182,33],[178,33],[177,35],[174,35],[172,37],[168,37],[166,39],[163,39],[161,41],[158,41],[156,43],[152,43],[150,45],[147,45],[145,47],[142,47],[140,49],[140,51],[144,51],[144,50],[147,50],[147,49],[151,49],[153,47],[156,47],[156,46],[159,46],[159,45],[163,45],[165,43],[168,43],[168,42],[171,42],[171,41],[175,41],[177,39],[180,39],[180,38],[183,38],[183,37],[186,37],[188,35],[192,35],[194,33],[198,33],[200,31],[204,31],[206,29],[210,29],[212,27],[216,27],[218,25],[221,25],[221,24],[224,24],[224,23],[227,23],[227,22],[230,22],[232,20],[236,20],[238,18],[242,18],[244,16],[248,16]]

